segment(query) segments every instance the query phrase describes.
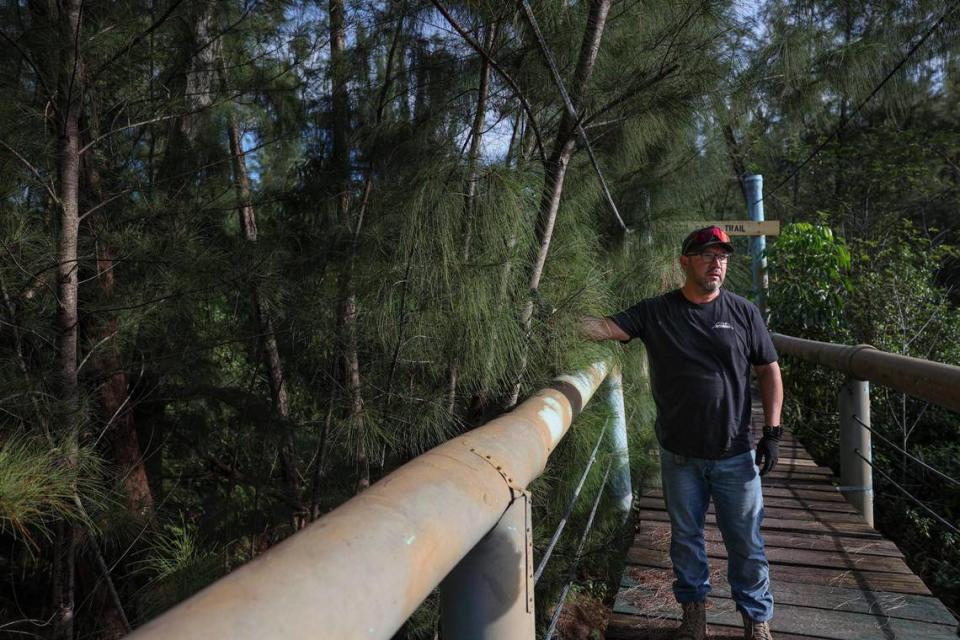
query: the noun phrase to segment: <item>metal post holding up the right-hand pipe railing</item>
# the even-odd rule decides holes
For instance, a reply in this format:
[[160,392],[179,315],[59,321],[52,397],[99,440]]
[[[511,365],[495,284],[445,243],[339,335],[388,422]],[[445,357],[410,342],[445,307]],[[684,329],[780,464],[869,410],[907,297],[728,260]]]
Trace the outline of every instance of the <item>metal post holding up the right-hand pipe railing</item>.
[[870,383],[847,378],[837,398],[840,413],[840,491],[873,526],[873,461],[870,432]]

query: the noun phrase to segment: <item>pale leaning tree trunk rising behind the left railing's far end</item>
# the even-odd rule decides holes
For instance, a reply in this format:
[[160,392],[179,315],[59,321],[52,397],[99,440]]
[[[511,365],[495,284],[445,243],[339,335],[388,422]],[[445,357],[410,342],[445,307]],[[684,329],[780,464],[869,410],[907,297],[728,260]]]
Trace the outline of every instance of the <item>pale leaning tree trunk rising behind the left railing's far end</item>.
[[[600,39],[606,25],[607,15],[610,12],[612,0],[593,0],[590,3],[590,15],[587,18],[587,27],[580,44],[580,56],[574,72],[573,84],[570,86],[570,100],[577,114],[583,107],[587,84],[593,75],[593,65],[600,51]],[[529,334],[533,319],[533,299],[540,288],[540,279],[550,252],[550,240],[553,238],[553,228],[557,221],[557,211],[560,209],[560,198],[563,195],[563,182],[567,174],[567,167],[576,145],[576,122],[569,111],[564,110],[560,119],[560,127],[554,141],[553,152],[547,160],[544,176],[543,194],[540,200],[540,211],[537,216],[536,246],[537,255],[530,273],[530,299],[526,302],[521,315],[524,330]],[[517,404],[520,397],[522,378],[527,368],[527,351],[521,357],[517,380],[507,402],[507,408]]]

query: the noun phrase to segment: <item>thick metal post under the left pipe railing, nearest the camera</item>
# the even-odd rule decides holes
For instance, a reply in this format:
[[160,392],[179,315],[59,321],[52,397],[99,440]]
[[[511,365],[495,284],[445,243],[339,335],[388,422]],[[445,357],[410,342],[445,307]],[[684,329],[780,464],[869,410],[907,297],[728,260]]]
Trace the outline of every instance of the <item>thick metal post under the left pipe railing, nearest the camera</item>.
[[440,626],[455,640],[533,640],[533,523],[526,493],[440,583]]

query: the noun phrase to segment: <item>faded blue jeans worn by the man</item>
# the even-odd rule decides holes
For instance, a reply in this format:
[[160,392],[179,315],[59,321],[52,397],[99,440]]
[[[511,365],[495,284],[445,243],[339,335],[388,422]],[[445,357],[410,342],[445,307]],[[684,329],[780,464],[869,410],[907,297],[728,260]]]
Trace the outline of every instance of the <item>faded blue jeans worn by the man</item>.
[[710,592],[703,525],[713,499],[727,547],[727,581],[737,609],[753,620],[773,617],[773,596],[760,523],[763,495],[753,452],[725,460],[679,456],[660,448],[663,497],[670,514],[673,593],[678,602],[699,602]]

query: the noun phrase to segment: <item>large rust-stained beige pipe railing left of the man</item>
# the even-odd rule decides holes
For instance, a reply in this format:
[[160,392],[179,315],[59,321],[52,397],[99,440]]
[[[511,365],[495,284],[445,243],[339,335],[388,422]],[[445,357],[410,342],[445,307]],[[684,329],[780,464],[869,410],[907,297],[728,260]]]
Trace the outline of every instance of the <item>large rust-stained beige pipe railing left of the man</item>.
[[607,373],[561,376],[419,456],[130,637],[388,640],[543,472]]

